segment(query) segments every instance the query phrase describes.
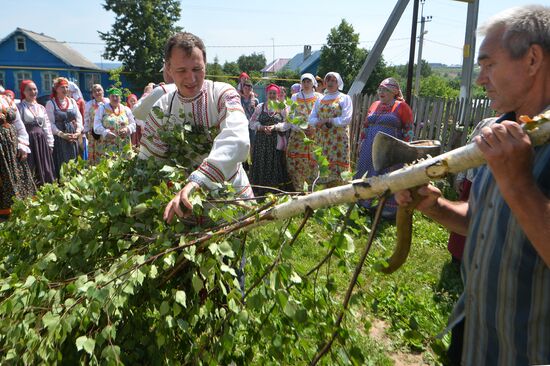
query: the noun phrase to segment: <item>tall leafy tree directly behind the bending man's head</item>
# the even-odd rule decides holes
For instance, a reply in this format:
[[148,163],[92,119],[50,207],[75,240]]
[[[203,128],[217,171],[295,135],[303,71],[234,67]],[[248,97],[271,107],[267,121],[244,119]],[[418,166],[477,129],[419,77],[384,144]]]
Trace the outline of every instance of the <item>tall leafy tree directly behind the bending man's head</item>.
[[[103,8],[116,14],[109,32],[98,32],[105,41],[103,57],[120,60],[134,87],[162,81],[164,44],[181,27],[181,7],[177,0],[105,0]],[[151,80],[153,79],[153,80]]]

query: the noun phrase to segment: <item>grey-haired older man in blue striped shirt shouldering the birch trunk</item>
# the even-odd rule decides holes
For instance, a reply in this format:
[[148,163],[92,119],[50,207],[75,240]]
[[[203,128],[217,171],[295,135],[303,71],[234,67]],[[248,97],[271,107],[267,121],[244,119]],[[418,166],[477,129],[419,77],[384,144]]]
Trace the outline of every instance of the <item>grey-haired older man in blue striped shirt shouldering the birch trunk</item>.
[[[550,364],[550,145],[533,148],[515,122],[550,108],[550,7],[510,9],[482,33],[477,82],[503,113],[474,139],[487,166],[468,202],[429,185],[418,209],[468,238],[464,293],[449,320],[451,363]],[[403,204],[410,194],[396,198]]]

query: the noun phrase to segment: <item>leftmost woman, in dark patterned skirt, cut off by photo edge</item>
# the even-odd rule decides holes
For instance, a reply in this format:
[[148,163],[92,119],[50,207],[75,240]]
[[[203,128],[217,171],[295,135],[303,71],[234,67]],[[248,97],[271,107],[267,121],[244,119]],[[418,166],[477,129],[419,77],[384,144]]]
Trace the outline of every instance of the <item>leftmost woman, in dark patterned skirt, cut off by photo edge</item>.
[[0,219],[11,213],[14,198],[34,194],[36,188],[27,165],[29,135],[15,103],[0,95]]

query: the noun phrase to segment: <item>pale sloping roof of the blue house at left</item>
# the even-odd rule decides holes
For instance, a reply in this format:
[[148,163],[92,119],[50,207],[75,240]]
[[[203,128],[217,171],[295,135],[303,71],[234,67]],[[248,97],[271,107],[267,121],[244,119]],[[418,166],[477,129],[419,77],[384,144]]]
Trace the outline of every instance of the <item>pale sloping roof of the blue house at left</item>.
[[60,58],[67,65],[81,67],[85,69],[101,70],[93,62],[82,56],[76,50],[69,47],[65,42],[60,42],[55,38],[45,35],[44,33],[36,33],[23,28],[17,28],[7,37],[2,39],[0,43],[13,36],[15,33],[22,33],[35,41],[38,45],[45,48],[48,52]]

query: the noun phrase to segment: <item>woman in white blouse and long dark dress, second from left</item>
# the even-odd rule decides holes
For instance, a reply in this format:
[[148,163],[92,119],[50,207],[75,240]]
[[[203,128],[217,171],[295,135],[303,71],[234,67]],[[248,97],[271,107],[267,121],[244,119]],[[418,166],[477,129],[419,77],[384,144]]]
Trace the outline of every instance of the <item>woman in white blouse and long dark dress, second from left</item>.
[[32,80],[21,82],[21,102],[17,105],[21,120],[29,135],[31,154],[27,159],[38,187],[55,180],[53,165],[53,134],[46,108],[36,101],[38,90]]

